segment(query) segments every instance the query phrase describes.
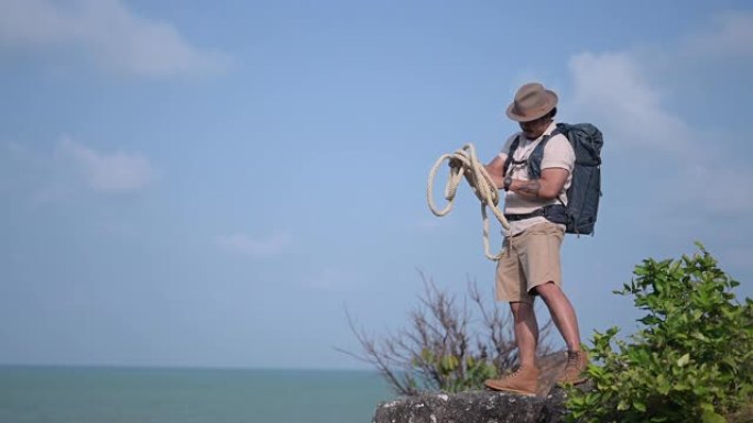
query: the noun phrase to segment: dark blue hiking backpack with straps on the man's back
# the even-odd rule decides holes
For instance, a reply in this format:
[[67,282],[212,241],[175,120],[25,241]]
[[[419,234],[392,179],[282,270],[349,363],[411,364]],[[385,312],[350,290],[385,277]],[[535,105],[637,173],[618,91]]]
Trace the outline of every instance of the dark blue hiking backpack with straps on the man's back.
[[[565,232],[569,234],[590,235],[593,233],[593,225],[599,212],[599,198],[601,197],[601,146],[604,143],[601,131],[590,123],[572,125],[558,123],[557,129],[550,135],[545,136],[528,156],[526,164],[528,176],[532,179],[541,177],[544,147],[549,138],[556,134],[565,135],[570,142],[576,163],[570,188],[567,189],[566,193],[567,207],[547,205],[544,208],[544,215],[549,219],[549,214],[552,214],[553,219],[549,220],[565,224]],[[512,157],[519,143],[520,137],[516,137],[510,145],[510,153],[504,163],[505,175],[513,163]],[[553,209],[552,213],[548,213],[547,208]]]

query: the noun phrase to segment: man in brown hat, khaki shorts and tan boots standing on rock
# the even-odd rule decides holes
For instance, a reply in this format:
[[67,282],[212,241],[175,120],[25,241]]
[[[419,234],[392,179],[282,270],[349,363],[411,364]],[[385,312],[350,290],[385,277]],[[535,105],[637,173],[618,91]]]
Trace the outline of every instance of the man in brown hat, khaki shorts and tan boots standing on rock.
[[[558,382],[580,383],[588,358],[580,349],[580,334],[575,310],[561,290],[559,248],[565,225],[550,210],[567,202],[575,166],[575,153],[568,140],[553,132],[557,94],[541,84],[526,84],[515,93],[506,114],[519,122],[521,132],[511,136],[502,152],[487,165],[498,188],[504,189],[504,213],[510,222],[505,252],[496,267],[496,298],[510,303],[520,368],[502,379],[485,381],[494,390],[535,394],[539,370],[536,365],[538,324],[534,298],[541,297],[549,309],[557,330],[567,344],[568,360]],[[532,178],[528,156],[547,138],[541,160],[541,175]],[[505,162],[515,144],[505,172]],[[554,222],[553,222],[554,221]],[[561,221],[560,221],[561,222]]]

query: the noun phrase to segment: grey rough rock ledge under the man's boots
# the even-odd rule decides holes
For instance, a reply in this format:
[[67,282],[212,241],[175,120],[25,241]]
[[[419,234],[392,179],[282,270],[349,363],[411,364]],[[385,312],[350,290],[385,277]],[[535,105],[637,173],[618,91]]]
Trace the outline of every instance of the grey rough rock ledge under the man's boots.
[[565,392],[545,397],[468,391],[424,393],[381,403],[372,423],[556,423],[563,421]]

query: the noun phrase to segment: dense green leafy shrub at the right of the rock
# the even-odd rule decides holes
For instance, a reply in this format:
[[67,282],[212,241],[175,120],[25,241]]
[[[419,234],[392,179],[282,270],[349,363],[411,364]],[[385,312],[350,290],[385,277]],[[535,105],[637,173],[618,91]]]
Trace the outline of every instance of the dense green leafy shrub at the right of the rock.
[[593,389],[569,389],[571,422],[716,423],[750,404],[753,301],[739,303],[740,283],[698,247],[678,260],[644,260],[614,292],[633,296],[646,314],[626,341],[615,327],[594,333]]

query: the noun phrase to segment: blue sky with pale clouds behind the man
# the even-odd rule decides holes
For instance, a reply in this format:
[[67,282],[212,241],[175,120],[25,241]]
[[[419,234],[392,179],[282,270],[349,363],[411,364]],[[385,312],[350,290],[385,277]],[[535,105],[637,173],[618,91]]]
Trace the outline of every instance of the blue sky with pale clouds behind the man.
[[422,272],[491,300],[478,200],[436,218],[427,176],[490,160],[528,81],[604,134],[596,234],[563,246],[585,341],[695,241],[753,297],[750,2],[0,9],[0,364],[363,368],[346,313],[405,326]]

